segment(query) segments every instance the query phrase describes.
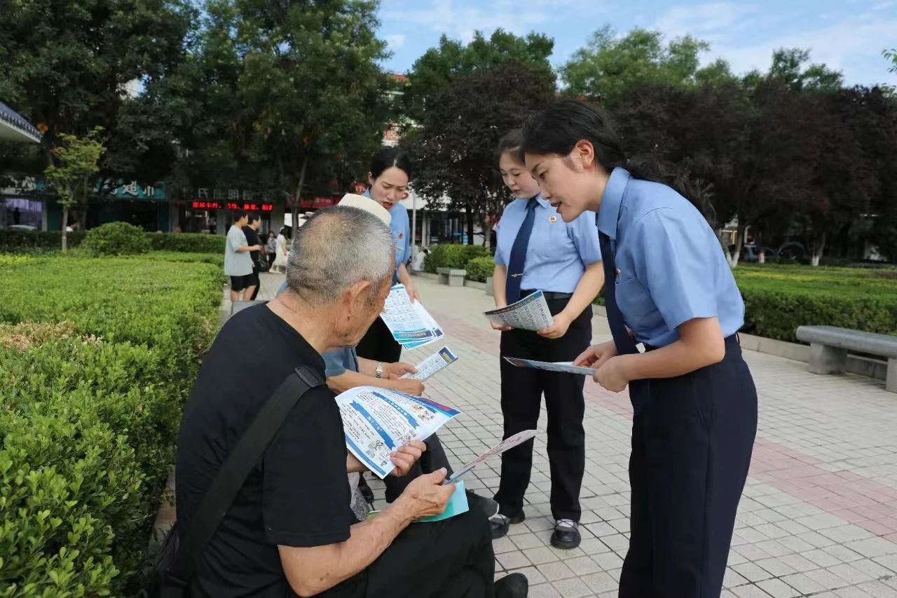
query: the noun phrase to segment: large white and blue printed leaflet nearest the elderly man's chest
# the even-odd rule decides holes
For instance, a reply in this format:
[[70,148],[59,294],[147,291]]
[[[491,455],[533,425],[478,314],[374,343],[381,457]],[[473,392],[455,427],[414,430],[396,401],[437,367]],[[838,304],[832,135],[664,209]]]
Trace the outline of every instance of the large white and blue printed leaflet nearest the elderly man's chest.
[[359,386],[336,397],[349,451],[380,479],[395,469],[390,454],[433,435],[457,409],[403,392]]

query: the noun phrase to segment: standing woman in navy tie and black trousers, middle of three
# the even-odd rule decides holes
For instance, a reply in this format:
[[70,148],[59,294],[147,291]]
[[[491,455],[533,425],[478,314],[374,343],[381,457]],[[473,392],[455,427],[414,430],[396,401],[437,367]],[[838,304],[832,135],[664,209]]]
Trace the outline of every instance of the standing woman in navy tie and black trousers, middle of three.
[[[510,365],[504,357],[572,361],[592,339],[592,300],[604,282],[595,221],[588,215],[569,224],[539,194],[519,148],[519,130],[504,136],[497,154],[501,177],[516,198],[501,215],[492,289],[499,308],[542,291],[553,325],[543,330],[501,330],[501,412],[504,437],[533,429],[542,394],[548,411],[548,461],[555,520],[552,545],[579,546],[579,489],[586,461],[582,427],[585,377]],[[501,455],[501,482],[495,495],[499,514],[492,537],[501,538],[511,523],[524,520],[523,497],[533,466],[533,441]]]

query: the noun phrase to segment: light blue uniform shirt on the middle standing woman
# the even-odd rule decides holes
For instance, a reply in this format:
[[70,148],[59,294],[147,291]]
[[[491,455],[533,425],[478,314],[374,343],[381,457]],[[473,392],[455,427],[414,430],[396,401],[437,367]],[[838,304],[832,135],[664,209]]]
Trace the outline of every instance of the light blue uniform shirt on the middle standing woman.
[[[536,219],[527,245],[527,262],[520,288],[527,291],[572,293],[586,266],[601,261],[598,230],[592,213],[565,223],[550,203],[536,196]],[[527,217],[529,199],[515,199],[505,207],[499,221],[495,263],[508,266],[510,249]]]

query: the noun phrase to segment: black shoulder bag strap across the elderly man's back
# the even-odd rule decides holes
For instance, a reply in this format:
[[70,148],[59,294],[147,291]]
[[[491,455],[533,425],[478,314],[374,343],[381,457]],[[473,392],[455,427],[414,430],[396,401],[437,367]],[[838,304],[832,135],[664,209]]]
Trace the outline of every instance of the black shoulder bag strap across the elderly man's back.
[[[180,541],[178,552],[171,567],[162,580],[162,598],[176,598],[187,595],[193,579],[196,564],[203,554],[205,545],[212,540],[215,530],[231,508],[249,472],[257,465],[268,444],[280,430],[283,420],[290,410],[308,391],[324,384],[324,379],[308,365],[297,367],[292,374],[274,391],[271,398],[258,412],[234,447],[222,469],[213,479],[212,486],[205,492],[196,509],[196,518]],[[300,404],[304,414],[311,407],[309,400]]]

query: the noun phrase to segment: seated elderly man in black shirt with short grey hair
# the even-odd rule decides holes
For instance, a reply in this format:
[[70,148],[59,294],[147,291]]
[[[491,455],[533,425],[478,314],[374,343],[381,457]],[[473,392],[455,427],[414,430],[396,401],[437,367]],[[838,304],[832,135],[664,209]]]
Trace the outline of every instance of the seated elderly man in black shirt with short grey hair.
[[[395,245],[376,216],[323,210],[296,229],[292,243],[289,290],[224,325],[187,401],[176,469],[182,530],[283,379],[300,365],[323,377],[320,354],[355,346],[388,295]],[[259,335],[263,350],[246,346]],[[303,401],[312,401],[310,409],[294,417]],[[415,442],[397,452],[394,474],[407,472],[422,450]],[[482,511],[412,524],[445,509],[454,487],[441,485],[444,470],[414,479],[377,517],[358,522],[346,473],[362,469],[346,450],[333,392],[321,386],[306,393],[206,545],[191,595],[527,595],[519,574],[493,585],[492,535]]]

